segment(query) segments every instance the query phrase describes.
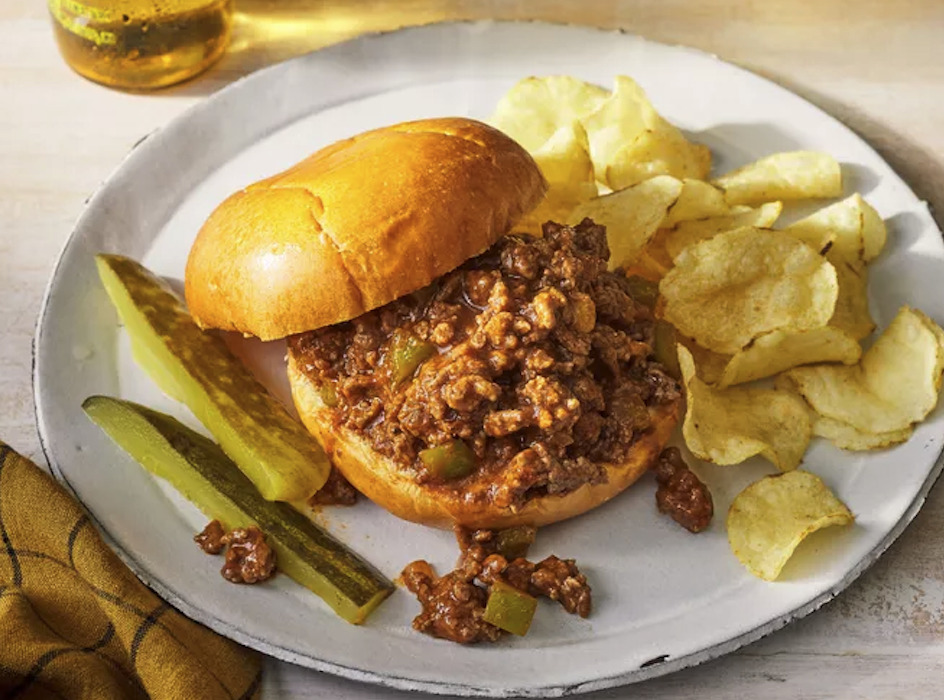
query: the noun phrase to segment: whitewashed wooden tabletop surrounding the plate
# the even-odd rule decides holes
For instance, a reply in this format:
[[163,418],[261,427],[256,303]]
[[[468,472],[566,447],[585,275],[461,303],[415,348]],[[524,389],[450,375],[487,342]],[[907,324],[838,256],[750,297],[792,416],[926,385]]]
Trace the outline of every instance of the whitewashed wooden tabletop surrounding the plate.
[[[365,31],[453,18],[545,19],[695,46],[793,89],[870,141],[944,215],[941,0],[236,0],[227,56],[132,95],[69,71],[44,3],[0,3],[0,437],[42,463],[33,325],[88,195],[145,134],[233,79]],[[592,697],[944,697],[944,488],[878,564],[820,612],[726,658]],[[271,662],[267,697],[406,697]]]

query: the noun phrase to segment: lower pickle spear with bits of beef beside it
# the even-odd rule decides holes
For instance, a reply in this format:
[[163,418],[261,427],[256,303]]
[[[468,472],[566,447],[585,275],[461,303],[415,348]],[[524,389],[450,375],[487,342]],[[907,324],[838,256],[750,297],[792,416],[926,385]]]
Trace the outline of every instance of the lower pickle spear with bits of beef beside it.
[[177,419],[130,401],[90,396],[86,414],[152,474],[228,528],[257,525],[278,567],[342,618],[360,624],[393,584],[287,503],[263,499],[212,440]]

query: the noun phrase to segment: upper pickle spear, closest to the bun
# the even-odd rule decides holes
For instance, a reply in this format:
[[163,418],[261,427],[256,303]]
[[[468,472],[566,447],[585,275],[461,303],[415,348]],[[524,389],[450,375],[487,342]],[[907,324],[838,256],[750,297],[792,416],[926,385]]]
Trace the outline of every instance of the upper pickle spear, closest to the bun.
[[184,402],[270,501],[303,501],[331,465],[315,439],[226,347],[205,333],[157,276],[120,255],[95,258],[131,336],[135,360]]

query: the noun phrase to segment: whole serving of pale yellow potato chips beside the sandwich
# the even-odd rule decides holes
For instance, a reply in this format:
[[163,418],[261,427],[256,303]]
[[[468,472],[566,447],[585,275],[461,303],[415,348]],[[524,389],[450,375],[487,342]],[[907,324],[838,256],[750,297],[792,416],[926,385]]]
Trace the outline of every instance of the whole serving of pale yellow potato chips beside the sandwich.
[[[875,329],[867,264],[887,232],[858,194],[774,228],[785,202],[840,197],[839,163],[778,153],[709,180],[710,151],[625,76],[612,91],[525,79],[491,122],[549,184],[521,230],[589,217],[607,227],[614,269],[658,283],[656,352],[685,387],[689,450],[716,464],[760,455],[782,472],[731,506],[728,538],[745,566],[773,580],[807,534],[851,522],[818,477],[797,470],[810,440],[849,450],[907,440],[937,404],[944,331],[905,307],[863,354]],[[736,386],[769,377],[772,386]]]

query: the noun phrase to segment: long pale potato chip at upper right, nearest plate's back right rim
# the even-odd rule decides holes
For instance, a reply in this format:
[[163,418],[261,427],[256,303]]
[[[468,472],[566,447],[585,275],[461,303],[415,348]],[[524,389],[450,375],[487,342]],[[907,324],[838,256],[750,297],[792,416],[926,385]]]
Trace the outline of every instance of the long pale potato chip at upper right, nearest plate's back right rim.
[[830,155],[814,151],[775,153],[712,181],[728,204],[839,197],[842,173]]

